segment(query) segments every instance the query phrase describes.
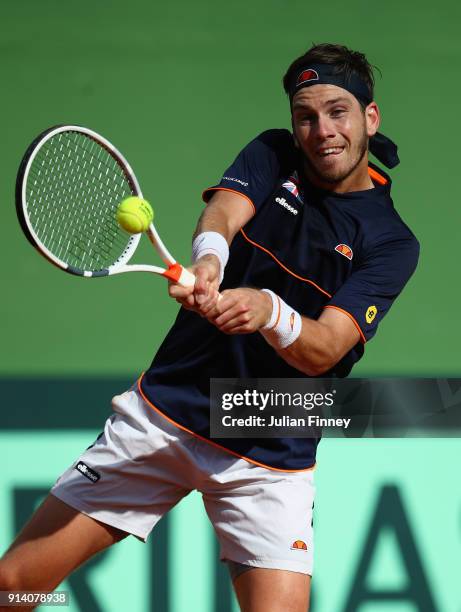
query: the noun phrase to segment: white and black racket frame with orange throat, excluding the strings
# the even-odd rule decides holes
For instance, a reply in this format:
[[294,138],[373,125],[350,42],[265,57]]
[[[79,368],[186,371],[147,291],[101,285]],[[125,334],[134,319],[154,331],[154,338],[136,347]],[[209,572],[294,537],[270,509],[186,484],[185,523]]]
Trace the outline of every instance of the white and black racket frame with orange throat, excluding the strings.
[[[85,278],[112,276],[114,274],[122,274],[125,272],[150,272],[153,274],[159,274],[161,276],[164,276],[168,278],[169,280],[173,282],[177,282],[183,286],[194,285],[195,276],[191,272],[186,270],[183,266],[181,266],[181,264],[179,264],[174,259],[174,257],[171,255],[171,253],[168,251],[168,249],[164,245],[153,223],[149,225],[149,228],[145,233],[147,234],[150,242],[154,246],[157,253],[160,255],[160,258],[167,266],[166,268],[161,268],[160,266],[145,265],[145,264],[127,265],[128,261],[132,258],[132,256],[134,255],[136,251],[136,248],[141,239],[141,235],[142,235],[141,233],[133,234],[129,238],[127,246],[125,247],[123,253],[117,259],[117,261],[114,262],[113,265],[109,266],[108,268],[104,270],[98,270],[98,271],[79,270],[77,268],[74,268],[73,266],[70,266],[66,262],[56,257],[56,255],[54,255],[49,249],[46,248],[46,246],[37,236],[29,220],[29,214],[27,211],[26,186],[27,186],[27,181],[29,178],[30,168],[34,162],[35,157],[40,151],[40,149],[51,138],[63,132],[79,132],[82,134],[86,134],[92,140],[94,140],[95,142],[103,146],[110,153],[110,155],[115,159],[115,161],[119,164],[123,173],[127,177],[131,185],[133,195],[138,196],[140,198],[143,197],[138,179],[136,178],[130,164],[125,159],[125,157],[120,153],[120,151],[116,147],[114,147],[114,145],[111,142],[109,142],[106,138],[104,138],[97,132],[94,132],[93,130],[90,130],[88,128],[78,126],[78,125],[60,125],[60,126],[56,126],[55,128],[50,128],[49,130],[44,132],[41,136],[38,136],[38,138],[34,141],[32,145],[33,150],[31,154],[29,155],[25,168],[22,172],[22,185],[21,185],[22,217],[23,217],[23,221],[26,224],[27,230],[30,234],[30,237],[28,236],[28,238],[34,243],[34,246],[37,248],[37,250],[46,259],[48,259],[48,261],[53,263],[58,268],[61,268],[62,270],[65,270],[66,272],[69,272],[71,274],[83,276]],[[27,156],[27,153],[26,153],[26,156]],[[21,167],[22,167],[22,164],[21,164]]]

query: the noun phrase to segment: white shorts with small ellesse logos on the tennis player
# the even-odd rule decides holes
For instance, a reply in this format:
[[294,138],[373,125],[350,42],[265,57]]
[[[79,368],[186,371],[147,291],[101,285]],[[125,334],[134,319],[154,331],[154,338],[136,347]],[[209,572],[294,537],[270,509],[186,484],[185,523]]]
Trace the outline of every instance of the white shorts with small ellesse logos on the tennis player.
[[239,459],[169,422],[135,388],[112,405],[104,433],[57,480],[53,495],[145,541],[197,489],[222,560],[312,574],[312,471]]

